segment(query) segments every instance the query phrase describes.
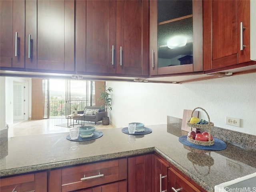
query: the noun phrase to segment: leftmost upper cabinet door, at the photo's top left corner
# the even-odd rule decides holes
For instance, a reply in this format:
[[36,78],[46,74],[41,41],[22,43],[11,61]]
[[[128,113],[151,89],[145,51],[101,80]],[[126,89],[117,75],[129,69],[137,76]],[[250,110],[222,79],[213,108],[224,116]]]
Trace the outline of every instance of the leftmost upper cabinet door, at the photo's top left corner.
[[0,66],[24,68],[25,1],[0,0]]

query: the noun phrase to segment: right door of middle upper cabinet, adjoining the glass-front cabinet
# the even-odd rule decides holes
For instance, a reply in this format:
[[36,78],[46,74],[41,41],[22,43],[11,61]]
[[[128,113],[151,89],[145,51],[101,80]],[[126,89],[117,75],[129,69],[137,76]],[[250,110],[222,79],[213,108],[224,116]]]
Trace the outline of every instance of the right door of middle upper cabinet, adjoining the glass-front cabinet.
[[148,1],[117,1],[117,74],[148,76],[148,20]]

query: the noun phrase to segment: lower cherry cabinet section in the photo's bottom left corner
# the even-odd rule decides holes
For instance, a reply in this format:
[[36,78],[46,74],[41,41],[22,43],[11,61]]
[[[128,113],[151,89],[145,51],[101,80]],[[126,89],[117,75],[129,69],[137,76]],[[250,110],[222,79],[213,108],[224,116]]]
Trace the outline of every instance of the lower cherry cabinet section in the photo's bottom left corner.
[[1,192],[46,192],[47,172],[1,178]]

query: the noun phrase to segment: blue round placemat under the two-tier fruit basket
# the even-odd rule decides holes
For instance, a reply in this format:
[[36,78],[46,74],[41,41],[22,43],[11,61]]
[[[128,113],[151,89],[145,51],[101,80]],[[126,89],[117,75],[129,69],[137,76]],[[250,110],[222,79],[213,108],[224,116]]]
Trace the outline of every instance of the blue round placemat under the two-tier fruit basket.
[[182,144],[184,144],[186,146],[193,147],[196,149],[202,149],[202,150],[224,150],[227,147],[227,145],[224,141],[222,141],[218,138],[215,138],[215,137],[214,137],[214,145],[211,145],[211,146],[203,146],[203,145],[197,145],[197,144],[191,143],[187,140],[186,135],[180,136],[179,142],[181,142]]

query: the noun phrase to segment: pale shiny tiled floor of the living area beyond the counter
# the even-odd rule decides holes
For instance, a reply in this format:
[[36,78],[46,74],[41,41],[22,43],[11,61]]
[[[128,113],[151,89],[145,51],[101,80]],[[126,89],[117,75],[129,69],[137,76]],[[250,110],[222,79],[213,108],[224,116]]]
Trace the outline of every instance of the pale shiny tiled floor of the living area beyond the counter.
[[[49,134],[68,132],[66,127],[56,126],[58,124],[67,123],[67,119],[43,119],[43,120],[27,120],[22,122],[14,122],[13,126],[9,127],[8,137],[17,137],[25,135]],[[97,122],[96,129],[114,128],[110,125],[102,125],[102,122]]]

